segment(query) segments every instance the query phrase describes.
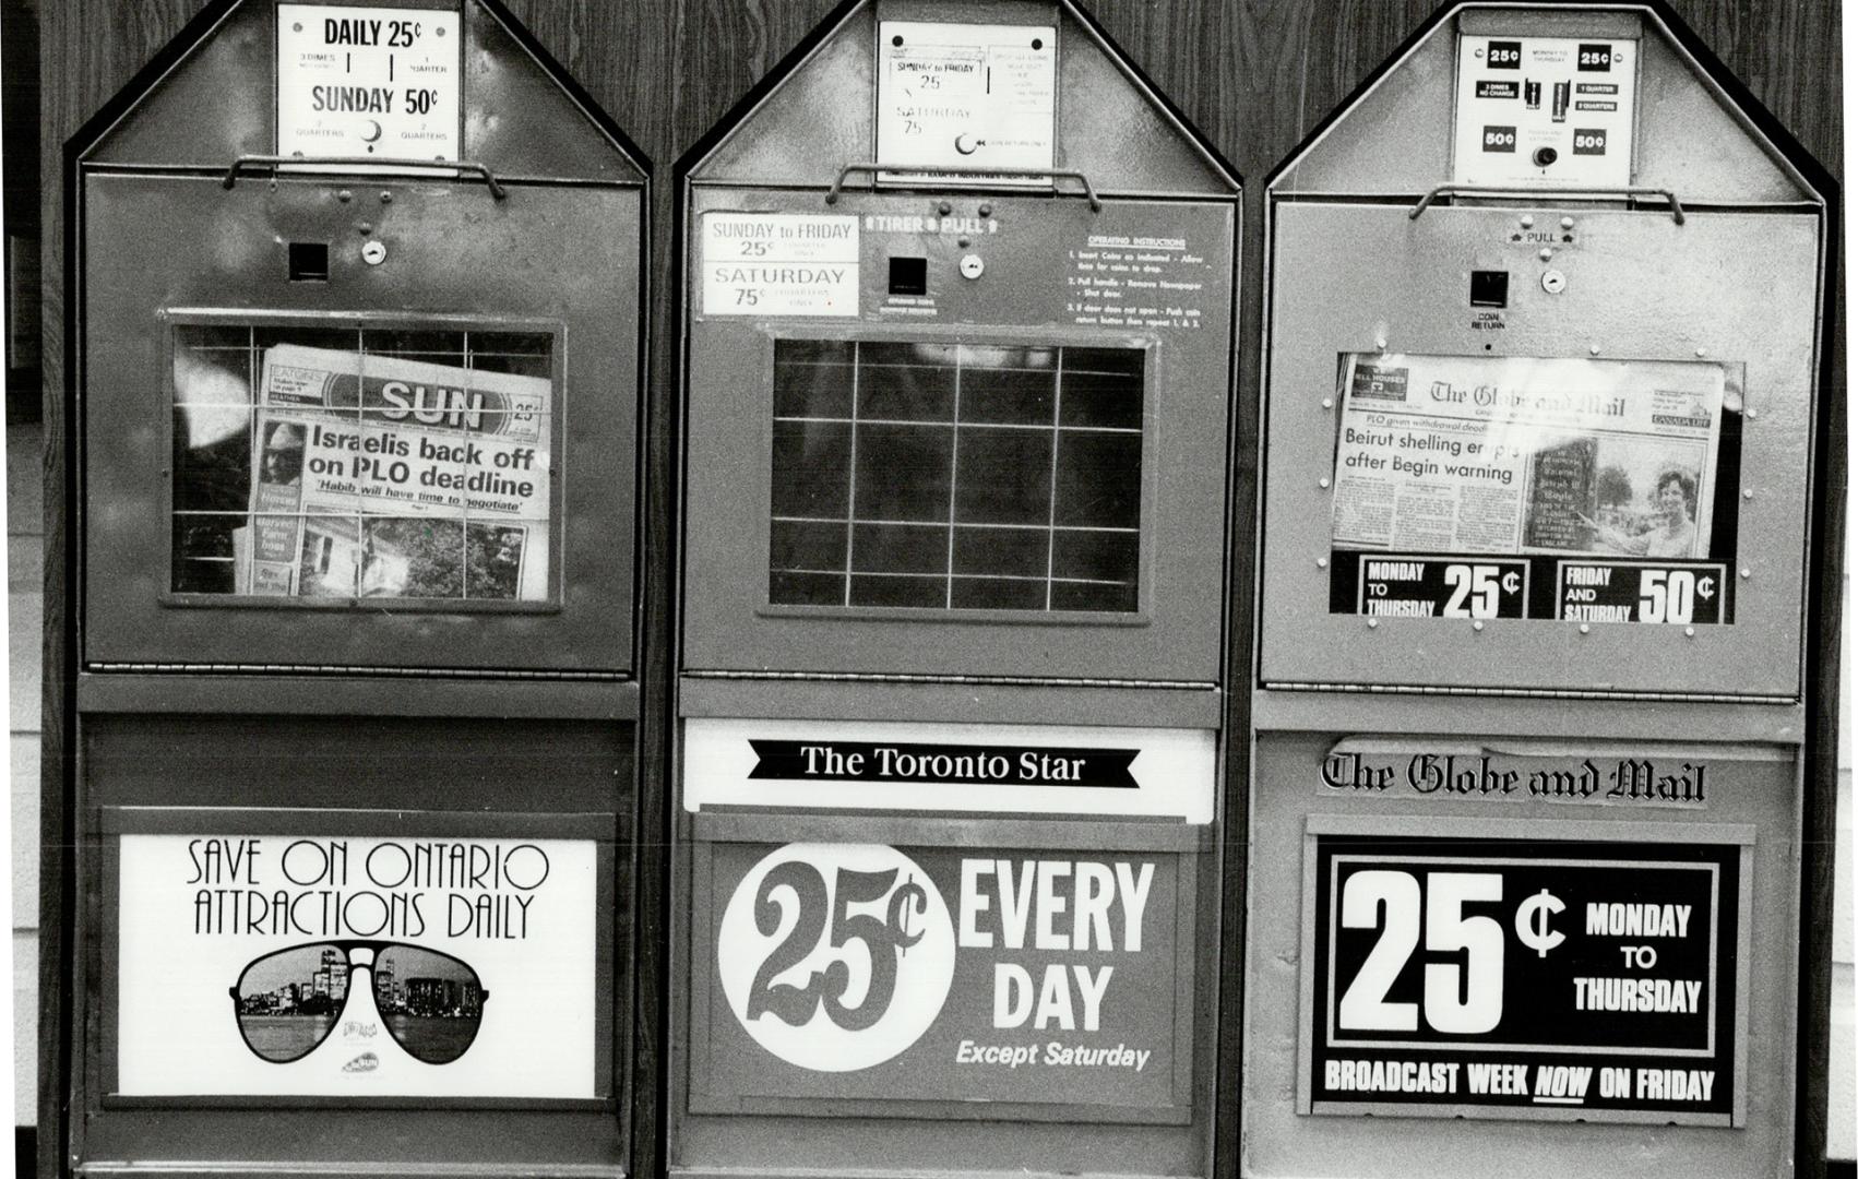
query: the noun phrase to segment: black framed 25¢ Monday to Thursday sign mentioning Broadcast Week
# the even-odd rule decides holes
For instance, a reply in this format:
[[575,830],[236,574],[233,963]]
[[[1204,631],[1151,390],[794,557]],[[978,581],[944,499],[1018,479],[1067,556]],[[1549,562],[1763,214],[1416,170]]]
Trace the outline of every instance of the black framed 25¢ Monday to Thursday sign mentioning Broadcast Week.
[[1304,830],[1299,1112],[1743,1125],[1752,828]]

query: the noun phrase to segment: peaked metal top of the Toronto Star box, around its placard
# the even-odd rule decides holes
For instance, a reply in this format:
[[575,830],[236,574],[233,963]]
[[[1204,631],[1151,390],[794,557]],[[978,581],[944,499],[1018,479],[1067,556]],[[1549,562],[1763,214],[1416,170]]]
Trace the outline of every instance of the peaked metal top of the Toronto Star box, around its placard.
[[678,162],[678,173],[699,184],[823,189],[845,165],[886,163],[877,156],[879,20],[1053,26],[1055,169],[1111,195],[1239,191],[1237,169],[1072,0],[845,0]]

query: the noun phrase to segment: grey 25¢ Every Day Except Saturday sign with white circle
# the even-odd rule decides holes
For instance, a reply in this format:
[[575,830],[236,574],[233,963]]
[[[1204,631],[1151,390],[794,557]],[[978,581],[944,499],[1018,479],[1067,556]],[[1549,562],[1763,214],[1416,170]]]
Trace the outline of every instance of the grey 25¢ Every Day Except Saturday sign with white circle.
[[710,1084],[738,1097],[1178,1105],[1187,862],[719,843]]

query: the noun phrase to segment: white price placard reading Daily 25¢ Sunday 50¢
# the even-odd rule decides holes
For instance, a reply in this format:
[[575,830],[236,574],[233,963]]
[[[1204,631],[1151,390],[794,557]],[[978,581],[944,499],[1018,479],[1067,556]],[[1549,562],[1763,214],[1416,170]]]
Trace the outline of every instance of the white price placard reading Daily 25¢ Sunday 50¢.
[[277,7],[277,154],[457,160],[459,13]]

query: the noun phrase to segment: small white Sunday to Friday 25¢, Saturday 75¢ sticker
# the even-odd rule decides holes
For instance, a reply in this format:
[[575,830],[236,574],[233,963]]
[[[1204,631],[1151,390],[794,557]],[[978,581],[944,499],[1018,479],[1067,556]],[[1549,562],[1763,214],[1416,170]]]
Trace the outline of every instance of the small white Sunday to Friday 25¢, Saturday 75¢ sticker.
[[857,316],[858,219],[704,214],[702,314]]

